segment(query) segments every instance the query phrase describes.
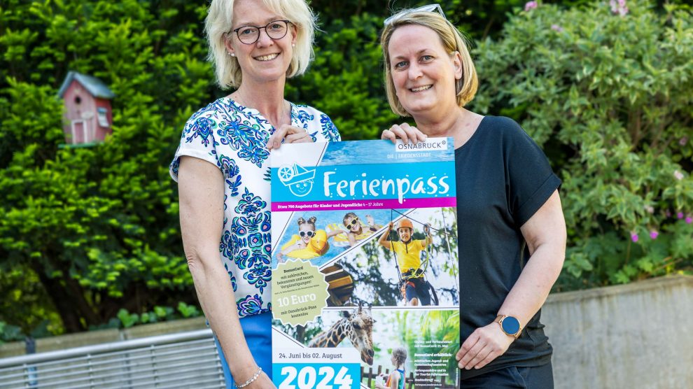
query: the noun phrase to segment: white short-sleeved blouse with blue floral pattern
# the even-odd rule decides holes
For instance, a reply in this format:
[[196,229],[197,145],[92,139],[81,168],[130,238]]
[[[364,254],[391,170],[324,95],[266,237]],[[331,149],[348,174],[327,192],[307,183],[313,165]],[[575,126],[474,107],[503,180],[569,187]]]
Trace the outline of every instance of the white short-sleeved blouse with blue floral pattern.
[[[304,128],[315,142],[339,141],[324,113],[291,104],[291,125]],[[174,181],[182,155],[215,164],[224,176],[224,229],[221,259],[231,278],[241,317],[272,310],[270,293],[269,151],[274,127],[258,111],[222,97],[186,122],[170,166]]]

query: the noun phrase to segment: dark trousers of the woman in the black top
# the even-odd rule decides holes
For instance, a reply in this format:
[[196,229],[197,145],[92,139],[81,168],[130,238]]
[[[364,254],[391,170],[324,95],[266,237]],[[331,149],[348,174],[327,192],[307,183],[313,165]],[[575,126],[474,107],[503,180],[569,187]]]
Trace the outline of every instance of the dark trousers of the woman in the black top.
[[461,389],[553,389],[551,362],[538,367],[505,367],[462,381]]

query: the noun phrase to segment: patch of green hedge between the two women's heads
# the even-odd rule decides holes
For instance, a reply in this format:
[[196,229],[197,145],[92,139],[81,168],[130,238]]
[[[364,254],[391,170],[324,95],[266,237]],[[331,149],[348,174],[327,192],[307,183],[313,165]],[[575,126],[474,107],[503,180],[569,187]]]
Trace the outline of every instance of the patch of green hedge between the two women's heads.
[[382,83],[381,26],[367,13],[332,20],[318,37],[309,72],[289,81],[288,98],[328,113],[344,140],[377,139],[397,120]]

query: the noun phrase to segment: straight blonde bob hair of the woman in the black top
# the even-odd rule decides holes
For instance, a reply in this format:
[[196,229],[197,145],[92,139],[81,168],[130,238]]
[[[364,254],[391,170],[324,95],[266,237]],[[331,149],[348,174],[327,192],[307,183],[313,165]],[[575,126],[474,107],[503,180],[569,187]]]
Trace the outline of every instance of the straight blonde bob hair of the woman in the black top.
[[477,71],[474,68],[474,62],[472,62],[472,57],[469,54],[467,41],[465,41],[460,31],[438,13],[407,13],[407,10],[401,11],[401,13],[402,16],[391,22],[391,24],[387,24],[380,35],[380,45],[383,49],[385,63],[385,92],[392,111],[400,116],[411,116],[402,106],[395,92],[395,83],[393,83],[390,70],[390,52],[388,50],[390,38],[392,38],[395,29],[409,24],[418,24],[432,29],[440,37],[440,41],[447,52],[451,55],[454,54],[454,52],[460,53],[462,57],[462,78],[456,80],[455,85],[457,105],[461,108],[472,101],[474,95],[477,93],[479,82],[477,80]]

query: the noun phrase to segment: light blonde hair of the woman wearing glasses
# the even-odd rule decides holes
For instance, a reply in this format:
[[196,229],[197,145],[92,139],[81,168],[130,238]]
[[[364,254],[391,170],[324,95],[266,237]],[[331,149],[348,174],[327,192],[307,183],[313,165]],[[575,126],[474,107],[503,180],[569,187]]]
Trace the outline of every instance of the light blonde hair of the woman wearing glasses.
[[[314,57],[313,37],[315,15],[305,0],[262,0],[272,12],[290,20],[296,28],[296,45],[286,71],[287,77],[298,76],[308,68]],[[204,31],[209,43],[209,59],[216,71],[216,82],[222,89],[239,87],[243,80],[241,66],[236,57],[231,57],[224,44],[226,34],[232,30],[233,5],[235,0],[212,0],[204,20]],[[233,32],[232,32],[233,34]]]

